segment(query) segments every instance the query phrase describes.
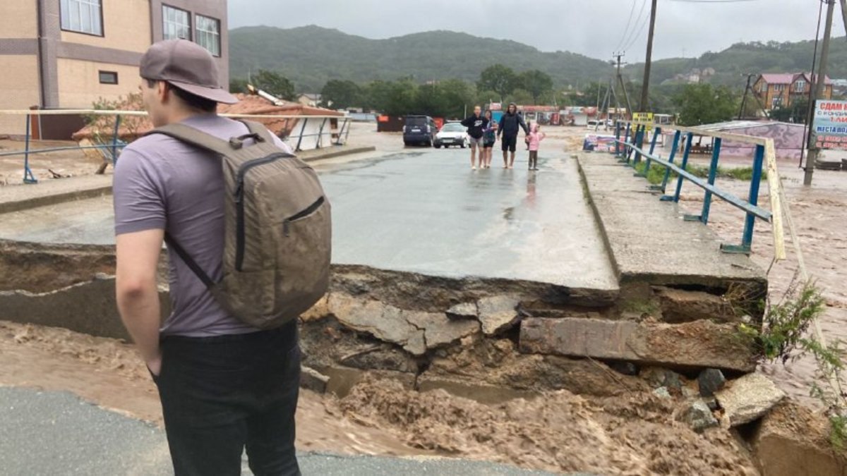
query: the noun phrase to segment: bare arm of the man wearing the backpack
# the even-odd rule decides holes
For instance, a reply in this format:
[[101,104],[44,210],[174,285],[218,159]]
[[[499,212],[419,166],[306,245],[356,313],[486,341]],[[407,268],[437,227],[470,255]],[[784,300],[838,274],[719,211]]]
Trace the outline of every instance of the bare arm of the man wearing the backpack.
[[115,288],[120,318],[153,374],[158,374],[161,367],[156,270],[163,235],[163,230],[143,230],[116,238]]

